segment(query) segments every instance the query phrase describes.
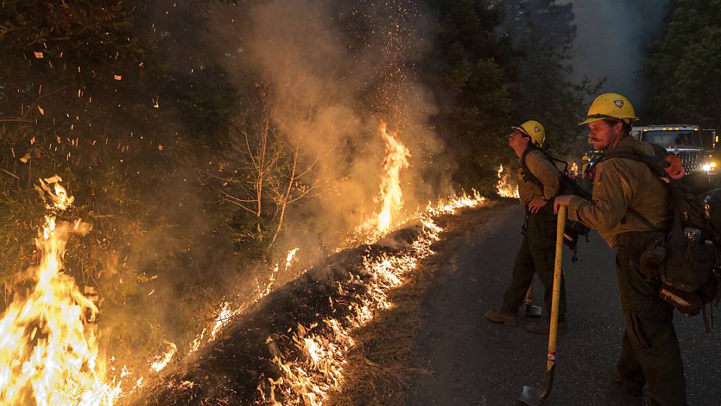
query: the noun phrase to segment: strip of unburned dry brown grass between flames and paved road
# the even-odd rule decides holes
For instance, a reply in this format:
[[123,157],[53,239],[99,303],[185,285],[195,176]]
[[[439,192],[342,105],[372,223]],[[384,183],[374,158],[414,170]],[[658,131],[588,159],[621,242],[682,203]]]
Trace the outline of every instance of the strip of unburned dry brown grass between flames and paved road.
[[345,383],[330,394],[327,405],[404,404],[407,388],[418,374],[429,373],[415,366],[412,345],[423,321],[423,297],[433,281],[435,269],[451,261],[464,238],[474,227],[495,215],[497,206],[466,209],[461,215],[436,220],[443,227],[434,256],[419,264],[406,283],[389,295],[392,308],[379,312],[371,323],[353,332],[356,345],[348,352]]

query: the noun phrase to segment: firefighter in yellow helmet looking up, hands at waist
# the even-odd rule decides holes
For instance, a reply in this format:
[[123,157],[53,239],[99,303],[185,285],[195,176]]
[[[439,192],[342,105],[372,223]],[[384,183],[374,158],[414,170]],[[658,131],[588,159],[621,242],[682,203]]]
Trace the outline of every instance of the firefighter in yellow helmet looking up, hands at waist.
[[[544,142],[545,130],[538,121],[526,121],[511,127],[508,146],[518,155],[518,196],[526,210],[523,241],[516,254],[513,276],[498,309],[485,312],[486,319],[508,327],[518,325],[518,307],[523,303],[534,274],[544,285],[546,314],[551,314],[553,295],[553,267],[556,244],[556,219],[550,201],[558,194],[560,181],[558,168],[539,149]],[[528,173],[524,173],[528,171]],[[559,327],[565,328],[565,282],[561,285]],[[536,334],[548,334],[548,316],[533,321],[526,329]]]

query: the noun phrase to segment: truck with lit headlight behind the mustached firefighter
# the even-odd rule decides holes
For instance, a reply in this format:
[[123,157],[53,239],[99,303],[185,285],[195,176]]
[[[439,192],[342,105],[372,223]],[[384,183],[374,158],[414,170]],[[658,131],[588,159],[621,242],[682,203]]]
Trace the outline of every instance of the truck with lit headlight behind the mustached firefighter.
[[714,129],[701,129],[695,124],[634,126],[632,137],[659,144],[671,154],[681,158],[686,176],[693,178],[699,190],[717,186],[717,171],[721,162],[716,159],[715,147],[719,142]]

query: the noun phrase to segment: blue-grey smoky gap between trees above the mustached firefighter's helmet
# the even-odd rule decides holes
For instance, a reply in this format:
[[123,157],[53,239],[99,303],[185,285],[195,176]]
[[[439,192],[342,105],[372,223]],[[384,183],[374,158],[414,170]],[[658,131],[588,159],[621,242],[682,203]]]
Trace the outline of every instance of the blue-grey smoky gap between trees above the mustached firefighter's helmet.
[[[569,1],[565,1],[569,2]],[[573,79],[606,77],[604,92],[626,95],[643,108],[641,70],[648,46],[663,34],[670,0],[575,0],[578,27],[573,46]]]

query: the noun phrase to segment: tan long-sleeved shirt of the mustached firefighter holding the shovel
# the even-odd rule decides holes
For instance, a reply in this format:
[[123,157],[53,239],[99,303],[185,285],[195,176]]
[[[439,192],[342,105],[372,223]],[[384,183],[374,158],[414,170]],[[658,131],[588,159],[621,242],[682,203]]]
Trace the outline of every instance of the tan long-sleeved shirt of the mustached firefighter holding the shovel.
[[[618,146],[653,155],[650,144],[633,137],[625,137]],[[568,218],[598,230],[606,243],[615,247],[620,233],[652,231],[647,222],[658,229],[668,227],[673,214],[670,193],[645,163],[629,158],[610,158],[596,166],[593,198],[588,202],[573,196],[568,204]]]

